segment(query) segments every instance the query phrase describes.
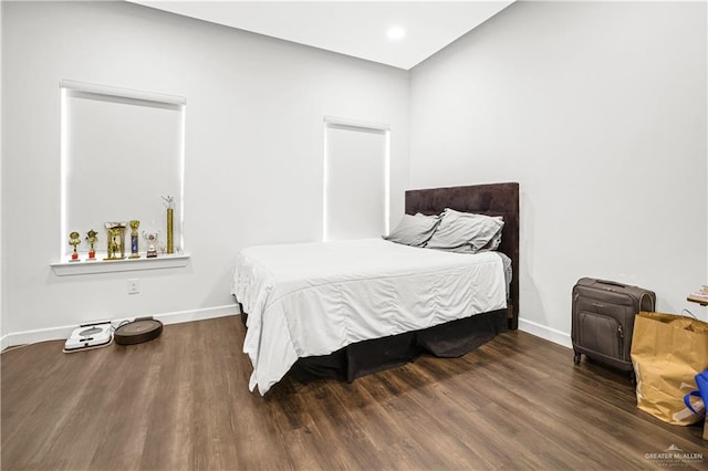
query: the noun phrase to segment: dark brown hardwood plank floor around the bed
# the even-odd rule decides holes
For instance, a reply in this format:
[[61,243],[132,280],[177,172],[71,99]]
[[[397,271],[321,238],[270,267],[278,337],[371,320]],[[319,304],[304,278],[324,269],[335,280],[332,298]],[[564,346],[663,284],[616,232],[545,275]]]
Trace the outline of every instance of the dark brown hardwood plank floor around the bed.
[[[708,468],[700,427],[638,410],[625,374],[523,332],[353,384],[287,378],[264,398],[243,335],[230,316],[134,346],[3,353],[2,469]],[[702,459],[650,454],[670,446]]]

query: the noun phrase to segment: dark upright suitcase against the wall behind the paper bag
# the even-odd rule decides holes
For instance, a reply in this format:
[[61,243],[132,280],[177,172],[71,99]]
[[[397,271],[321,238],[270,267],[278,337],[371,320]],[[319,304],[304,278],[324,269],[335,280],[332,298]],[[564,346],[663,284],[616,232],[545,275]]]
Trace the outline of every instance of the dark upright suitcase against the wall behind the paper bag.
[[573,286],[573,360],[584,354],[592,359],[631,373],[629,352],[634,317],[654,311],[656,294],[614,281],[583,278]]

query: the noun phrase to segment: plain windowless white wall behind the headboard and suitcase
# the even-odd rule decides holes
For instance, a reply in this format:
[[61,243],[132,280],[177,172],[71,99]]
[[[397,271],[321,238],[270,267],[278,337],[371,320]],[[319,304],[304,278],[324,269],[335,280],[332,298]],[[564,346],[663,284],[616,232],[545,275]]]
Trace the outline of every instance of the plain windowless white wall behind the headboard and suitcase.
[[581,276],[706,308],[705,2],[518,2],[412,71],[412,187],[519,181],[520,316],[570,344]]

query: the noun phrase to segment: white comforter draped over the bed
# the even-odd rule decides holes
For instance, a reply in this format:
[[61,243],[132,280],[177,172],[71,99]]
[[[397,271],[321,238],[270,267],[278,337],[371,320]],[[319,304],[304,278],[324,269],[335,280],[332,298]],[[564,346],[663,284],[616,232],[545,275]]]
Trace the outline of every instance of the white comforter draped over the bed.
[[231,294],[243,305],[249,387],[264,395],[299,357],[506,307],[502,261],[383,239],[243,249]]

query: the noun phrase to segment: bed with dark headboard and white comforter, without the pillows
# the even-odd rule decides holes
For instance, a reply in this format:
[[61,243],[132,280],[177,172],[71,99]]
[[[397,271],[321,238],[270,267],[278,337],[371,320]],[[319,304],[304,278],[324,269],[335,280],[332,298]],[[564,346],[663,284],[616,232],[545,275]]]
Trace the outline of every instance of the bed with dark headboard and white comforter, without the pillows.
[[287,374],[352,381],[423,353],[461,356],[517,328],[518,184],[409,190],[405,208],[502,217],[501,244],[475,255],[383,239],[243,249],[231,294],[248,328],[251,390],[266,395]]

